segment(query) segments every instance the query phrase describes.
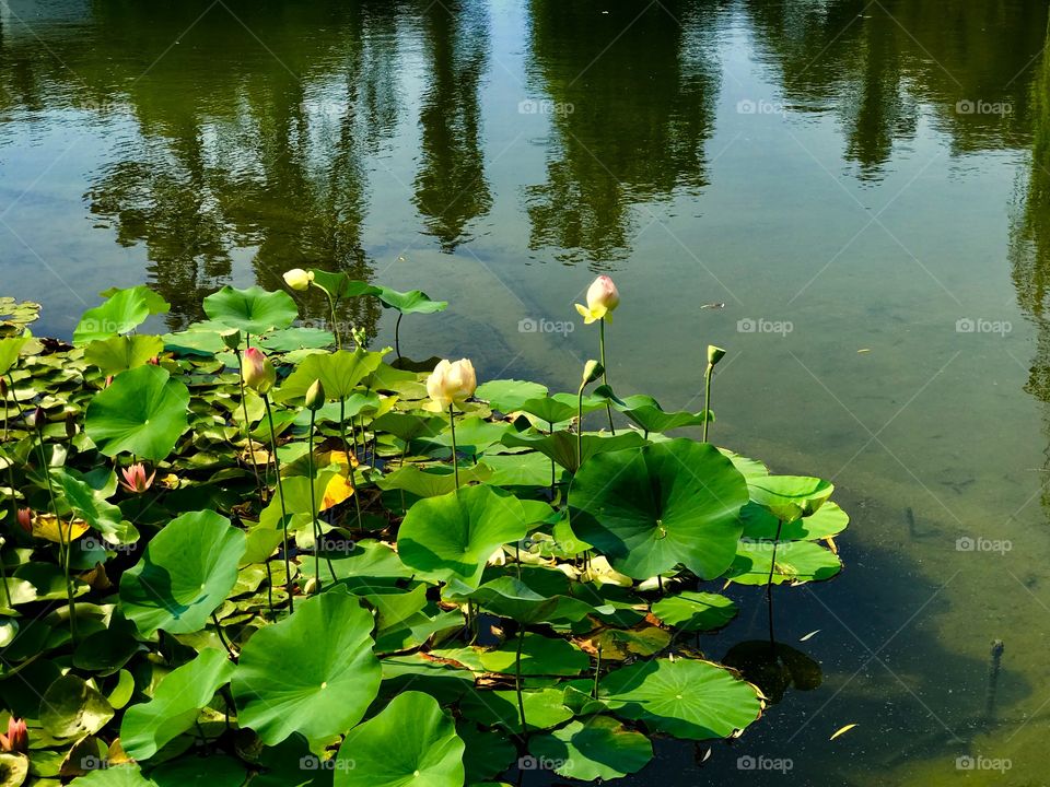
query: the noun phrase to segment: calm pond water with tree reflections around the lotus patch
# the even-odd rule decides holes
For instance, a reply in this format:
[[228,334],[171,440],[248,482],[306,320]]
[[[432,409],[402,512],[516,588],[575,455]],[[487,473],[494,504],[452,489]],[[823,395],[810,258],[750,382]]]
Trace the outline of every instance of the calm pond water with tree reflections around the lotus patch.
[[[609,272],[617,390],[699,409],[726,348],[712,436],[852,515],[844,574],[777,592],[820,686],[622,784],[1046,784],[1047,23],[1035,0],[3,0],[0,294],[68,336],[147,282],[177,328],[223,283],[340,268],[452,302],[406,318],[409,354],[567,389],[597,344],[572,304]],[[343,318],[393,341],[378,309]],[[715,659],[765,633],[732,592]]]

